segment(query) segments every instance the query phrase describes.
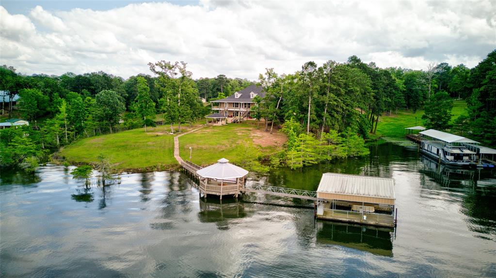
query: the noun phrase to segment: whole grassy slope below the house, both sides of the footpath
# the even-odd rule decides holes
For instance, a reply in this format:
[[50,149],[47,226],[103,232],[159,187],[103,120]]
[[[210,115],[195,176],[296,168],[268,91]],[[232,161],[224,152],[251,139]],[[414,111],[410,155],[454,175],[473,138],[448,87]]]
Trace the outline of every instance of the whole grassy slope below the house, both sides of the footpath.
[[[183,125],[182,130],[199,126]],[[70,163],[81,164],[95,163],[103,154],[119,172],[169,170],[178,163],[174,158],[175,135],[168,132],[166,125],[148,128],[146,133],[141,128],[85,138],[63,147],[57,155]],[[189,159],[189,147],[192,147],[192,161],[209,165],[222,157],[238,163],[246,156],[256,159],[280,151],[286,136],[277,132],[270,135],[251,124],[230,124],[204,127],[180,137],[179,141],[183,159]]]

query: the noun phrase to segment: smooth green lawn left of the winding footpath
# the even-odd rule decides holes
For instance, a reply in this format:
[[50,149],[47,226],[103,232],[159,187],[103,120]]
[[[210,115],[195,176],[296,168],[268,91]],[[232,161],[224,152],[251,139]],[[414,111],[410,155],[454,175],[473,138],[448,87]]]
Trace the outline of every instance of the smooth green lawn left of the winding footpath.
[[170,169],[177,165],[174,159],[174,136],[164,128],[134,129],[114,134],[81,139],[59,152],[72,163],[94,163],[100,154],[115,164],[117,171],[145,171]]

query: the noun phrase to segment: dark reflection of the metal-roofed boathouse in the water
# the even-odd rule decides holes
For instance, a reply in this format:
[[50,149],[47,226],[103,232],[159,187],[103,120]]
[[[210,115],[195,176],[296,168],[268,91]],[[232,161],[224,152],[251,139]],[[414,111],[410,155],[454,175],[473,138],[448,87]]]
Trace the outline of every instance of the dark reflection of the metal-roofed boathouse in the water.
[[393,256],[392,229],[317,221],[317,243],[337,244],[375,255]]

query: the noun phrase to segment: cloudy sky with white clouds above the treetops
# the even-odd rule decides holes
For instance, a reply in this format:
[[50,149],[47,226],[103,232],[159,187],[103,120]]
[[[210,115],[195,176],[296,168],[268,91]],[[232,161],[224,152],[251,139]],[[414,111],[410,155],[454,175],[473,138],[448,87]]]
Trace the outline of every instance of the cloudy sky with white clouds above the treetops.
[[151,74],[256,80],[357,55],[379,67],[474,67],[496,48],[496,1],[0,1],[0,64],[23,74]]

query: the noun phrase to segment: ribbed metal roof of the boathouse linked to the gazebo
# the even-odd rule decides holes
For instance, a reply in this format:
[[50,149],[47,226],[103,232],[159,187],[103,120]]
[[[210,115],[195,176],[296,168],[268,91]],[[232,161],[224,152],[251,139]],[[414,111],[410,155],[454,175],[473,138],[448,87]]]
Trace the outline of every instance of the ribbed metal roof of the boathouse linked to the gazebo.
[[347,174],[325,173],[317,197],[345,201],[394,204],[394,180]]

